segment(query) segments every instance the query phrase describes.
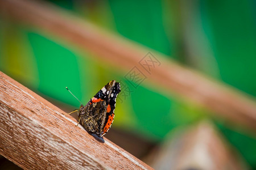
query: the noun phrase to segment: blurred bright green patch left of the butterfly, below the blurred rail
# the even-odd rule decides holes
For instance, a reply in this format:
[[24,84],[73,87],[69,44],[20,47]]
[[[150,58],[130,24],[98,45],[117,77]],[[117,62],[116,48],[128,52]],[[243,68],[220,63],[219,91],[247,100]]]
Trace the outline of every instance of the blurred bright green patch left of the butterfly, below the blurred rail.
[[38,90],[54,99],[76,104],[75,100],[67,100],[72,97],[65,88],[76,91],[76,97],[81,99],[80,72],[75,54],[38,33],[30,32],[27,36],[36,56],[40,79]]

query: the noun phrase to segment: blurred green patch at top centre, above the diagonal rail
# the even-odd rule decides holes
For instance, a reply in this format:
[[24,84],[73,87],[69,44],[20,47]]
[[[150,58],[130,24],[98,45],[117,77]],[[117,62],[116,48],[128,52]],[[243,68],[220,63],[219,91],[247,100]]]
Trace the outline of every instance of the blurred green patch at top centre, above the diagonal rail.
[[[109,1],[117,31],[164,54],[171,54],[161,1]],[[143,57],[143,56],[138,56]]]

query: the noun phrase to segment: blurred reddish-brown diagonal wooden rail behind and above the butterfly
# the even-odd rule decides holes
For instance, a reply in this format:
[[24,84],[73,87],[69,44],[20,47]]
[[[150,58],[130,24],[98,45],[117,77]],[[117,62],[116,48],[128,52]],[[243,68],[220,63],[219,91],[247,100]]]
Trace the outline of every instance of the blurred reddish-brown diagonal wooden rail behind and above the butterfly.
[[[159,89],[185,97],[213,111],[216,116],[256,131],[253,97],[167,60],[165,58],[168,57],[163,54],[107,33],[42,1],[1,0],[0,14],[3,18],[15,19],[16,22],[47,31],[51,36],[59,36],[126,73],[137,66],[137,70],[143,73],[141,77],[146,76]],[[154,70],[151,73],[138,64],[149,51],[162,63],[154,69],[151,67]]]

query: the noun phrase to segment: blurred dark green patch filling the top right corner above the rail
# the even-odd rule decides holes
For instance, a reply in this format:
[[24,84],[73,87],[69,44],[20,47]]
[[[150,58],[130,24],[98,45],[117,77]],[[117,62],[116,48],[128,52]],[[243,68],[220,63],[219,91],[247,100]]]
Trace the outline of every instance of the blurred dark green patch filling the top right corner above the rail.
[[[203,1],[221,79],[256,96],[256,15],[252,1]],[[204,20],[203,20],[204,22]],[[209,23],[209,21],[207,21]]]

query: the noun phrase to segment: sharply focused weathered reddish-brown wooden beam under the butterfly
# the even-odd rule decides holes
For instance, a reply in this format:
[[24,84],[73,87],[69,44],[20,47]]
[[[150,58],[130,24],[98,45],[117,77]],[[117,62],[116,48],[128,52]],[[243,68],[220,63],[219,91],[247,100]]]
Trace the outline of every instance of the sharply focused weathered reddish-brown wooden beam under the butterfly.
[[0,72],[0,154],[24,169],[151,169]]

